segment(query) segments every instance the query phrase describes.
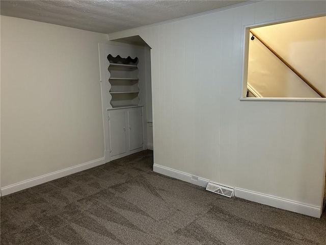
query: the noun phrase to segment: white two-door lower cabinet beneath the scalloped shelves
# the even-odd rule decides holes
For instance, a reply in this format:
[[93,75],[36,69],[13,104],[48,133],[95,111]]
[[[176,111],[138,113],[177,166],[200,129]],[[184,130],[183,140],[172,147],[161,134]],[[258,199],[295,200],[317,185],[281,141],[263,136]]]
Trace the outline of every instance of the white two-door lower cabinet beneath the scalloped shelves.
[[144,149],[143,107],[108,110],[111,160]]

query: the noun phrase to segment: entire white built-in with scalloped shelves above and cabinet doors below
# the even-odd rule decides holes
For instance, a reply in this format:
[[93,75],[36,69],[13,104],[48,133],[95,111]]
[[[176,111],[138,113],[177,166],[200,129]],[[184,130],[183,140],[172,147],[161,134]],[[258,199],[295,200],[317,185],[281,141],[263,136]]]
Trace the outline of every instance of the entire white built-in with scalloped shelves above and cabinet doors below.
[[106,162],[147,149],[145,53],[140,46],[99,44]]

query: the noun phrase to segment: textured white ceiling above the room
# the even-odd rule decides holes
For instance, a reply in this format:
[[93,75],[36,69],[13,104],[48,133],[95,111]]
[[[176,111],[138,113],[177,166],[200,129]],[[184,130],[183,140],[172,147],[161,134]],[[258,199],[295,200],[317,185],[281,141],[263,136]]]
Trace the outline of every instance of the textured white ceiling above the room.
[[247,1],[1,1],[1,15],[113,33]]

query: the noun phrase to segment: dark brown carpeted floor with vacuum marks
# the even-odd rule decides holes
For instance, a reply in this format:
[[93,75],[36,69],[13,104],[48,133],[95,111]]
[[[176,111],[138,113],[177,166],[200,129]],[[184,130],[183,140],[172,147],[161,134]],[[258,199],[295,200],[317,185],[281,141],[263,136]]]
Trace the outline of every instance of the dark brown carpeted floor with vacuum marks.
[[1,198],[1,244],[326,244],[321,219],[156,174],[152,152]]

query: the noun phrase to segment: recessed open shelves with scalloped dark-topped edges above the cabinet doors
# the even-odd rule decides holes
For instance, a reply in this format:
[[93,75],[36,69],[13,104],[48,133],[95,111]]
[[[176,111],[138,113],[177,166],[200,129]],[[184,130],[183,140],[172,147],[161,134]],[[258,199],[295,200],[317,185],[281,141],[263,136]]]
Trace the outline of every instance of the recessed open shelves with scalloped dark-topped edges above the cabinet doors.
[[138,58],[121,58],[119,55],[107,56],[110,62],[108,71],[111,84],[111,106],[112,108],[128,108],[139,105],[138,87]]

